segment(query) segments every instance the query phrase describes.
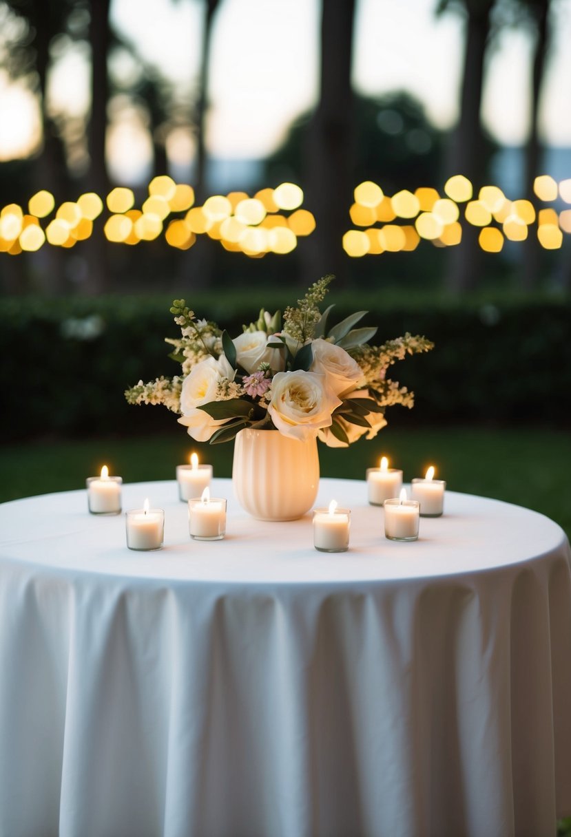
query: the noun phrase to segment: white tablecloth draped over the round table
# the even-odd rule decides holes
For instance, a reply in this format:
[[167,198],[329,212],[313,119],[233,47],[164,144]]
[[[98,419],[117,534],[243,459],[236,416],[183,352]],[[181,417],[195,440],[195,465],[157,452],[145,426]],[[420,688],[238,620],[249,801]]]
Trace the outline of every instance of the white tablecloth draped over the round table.
[[174,481],[131,552],[85,491],[0,506],[2,837],[509,837],[571,814],[571,556],[532,511],[448,493],[388,542],[366,485],[351,550],[311,516],[188,537]]

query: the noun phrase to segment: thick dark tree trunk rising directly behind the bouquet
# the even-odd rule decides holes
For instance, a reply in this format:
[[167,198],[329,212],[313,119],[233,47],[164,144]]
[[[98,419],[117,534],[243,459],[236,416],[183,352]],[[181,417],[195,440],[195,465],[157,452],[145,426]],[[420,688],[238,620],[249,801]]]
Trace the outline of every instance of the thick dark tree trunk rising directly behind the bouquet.
[[316,230],[306,241],[306,281],[347,270],[342,236],[351,226],[354,120],[351,87],[355,0],[322,0],[319,103],[306,136],[306,206]]

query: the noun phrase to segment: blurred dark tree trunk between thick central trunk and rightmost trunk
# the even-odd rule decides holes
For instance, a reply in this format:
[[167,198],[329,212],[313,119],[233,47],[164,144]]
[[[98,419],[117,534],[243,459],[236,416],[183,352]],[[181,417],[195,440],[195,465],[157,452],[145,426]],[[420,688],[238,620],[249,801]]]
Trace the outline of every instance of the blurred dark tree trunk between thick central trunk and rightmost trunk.
[[[445,162],[445,177],[465,175],[472,182],[476,196],[484,185],[487,165],[480,110],[492,6],[493,0],[468,0],[466,3],[466,52],[460,119],[450,138],[450,153]],[[481,273],[477,230],[468,223],[464,223],[463,228],[461,244],[450,249],[445,277],[447,290],[455,293],[474,288]]]

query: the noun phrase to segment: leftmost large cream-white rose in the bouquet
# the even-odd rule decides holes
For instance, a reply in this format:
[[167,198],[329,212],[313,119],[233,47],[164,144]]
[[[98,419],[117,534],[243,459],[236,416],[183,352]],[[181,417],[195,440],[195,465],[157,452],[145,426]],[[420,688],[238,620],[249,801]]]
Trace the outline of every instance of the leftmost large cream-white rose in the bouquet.
[[201,404],[216,400],[218,383],[222,378],[234,379],[234,369],[225,355],[220,355],[218,360],[207,357],[198,362],[183,381],[180,397],[183,415],[178,422],[188,428],[188,434],[197,442],[208,442],[215,430],[229,421],[213,419],[204,410],[198,409]]

